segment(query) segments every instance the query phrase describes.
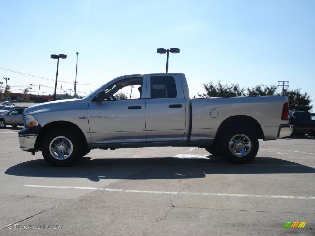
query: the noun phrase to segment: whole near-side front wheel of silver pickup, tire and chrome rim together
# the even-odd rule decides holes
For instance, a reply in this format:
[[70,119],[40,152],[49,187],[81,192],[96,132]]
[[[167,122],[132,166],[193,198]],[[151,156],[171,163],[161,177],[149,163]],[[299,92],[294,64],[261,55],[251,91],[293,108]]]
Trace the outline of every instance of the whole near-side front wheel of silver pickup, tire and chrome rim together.
[[60,127],[46,134],[42,142],[44,159],[52,166],[70,166],[82,157],[82,141],[77,132]]

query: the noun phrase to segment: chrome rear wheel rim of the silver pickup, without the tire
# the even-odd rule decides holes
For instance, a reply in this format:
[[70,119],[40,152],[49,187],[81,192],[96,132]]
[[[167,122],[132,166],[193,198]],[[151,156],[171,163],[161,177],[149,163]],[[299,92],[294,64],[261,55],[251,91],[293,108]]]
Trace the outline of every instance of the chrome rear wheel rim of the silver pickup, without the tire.
[[236,134],[231,138],[229,148],[232,155],[236,157],[244,157],[249,154],[252,148],[252,143],[247,135]]

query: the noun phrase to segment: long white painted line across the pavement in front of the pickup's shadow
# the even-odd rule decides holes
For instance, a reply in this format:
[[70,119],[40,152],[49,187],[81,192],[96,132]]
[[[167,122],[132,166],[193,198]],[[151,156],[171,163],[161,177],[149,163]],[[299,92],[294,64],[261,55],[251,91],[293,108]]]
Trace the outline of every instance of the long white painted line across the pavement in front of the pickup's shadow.
[[253,194],[219,194],[219,193],[192,193],[192,192],[169,192],[169,191],[146,191],[146,190],[130,190],[118,188],[93,188],[93,187],[76,187],[76,186],[46,186],[46,185],[24,185],[25,187],[37,188],[74,188],[88,190],[102,190],[109,192],[125,192],[125,193],[149,193],[149,194],[176,194],[176,195],[202,195],[202,196],[219,196],[219,197],[254,197],[254,198],[282,198],[282,199],[315,199],[315,197],[303,196],[283,196],[283,195],[253,195]]

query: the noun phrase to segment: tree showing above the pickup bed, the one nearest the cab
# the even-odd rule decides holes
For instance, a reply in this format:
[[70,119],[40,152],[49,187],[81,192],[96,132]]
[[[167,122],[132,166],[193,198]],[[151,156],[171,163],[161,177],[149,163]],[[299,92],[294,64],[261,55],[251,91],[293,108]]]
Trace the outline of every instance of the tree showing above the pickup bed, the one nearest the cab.
[[206,93],[198,94],[200,98],[216,98],[216,97],[238,97],[245,96],[244,88],[241,88],[238,84],[222,84],[220,80],[217,83],[203,83],[203,88]]

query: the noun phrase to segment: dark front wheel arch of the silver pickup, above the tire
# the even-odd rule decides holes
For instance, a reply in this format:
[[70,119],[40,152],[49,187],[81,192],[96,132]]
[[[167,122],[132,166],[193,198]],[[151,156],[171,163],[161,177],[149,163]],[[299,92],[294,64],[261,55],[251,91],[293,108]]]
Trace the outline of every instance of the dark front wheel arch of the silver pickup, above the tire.
[[54,129],[55,127],[66,127],[67,129],[71,129],[74,132],[77,132],[78,135],[80,135],[80,138],[83,140],[86,147],[88,147],[88,142],[82,132],[82,130],[77,126],[76,124],[70,122],[70,121],[53,121],[49,122],[46,125],[44,125],[40,131],[38,132],[36,142],[35,142],[35,150],[41,149],[41,142],[43,140],[43,136],[45,133],[49,132],[50,130]]

